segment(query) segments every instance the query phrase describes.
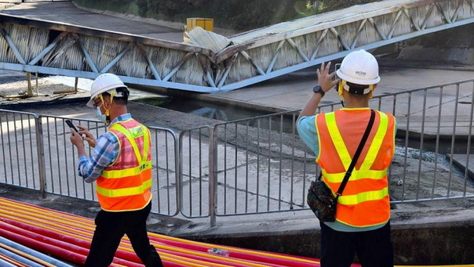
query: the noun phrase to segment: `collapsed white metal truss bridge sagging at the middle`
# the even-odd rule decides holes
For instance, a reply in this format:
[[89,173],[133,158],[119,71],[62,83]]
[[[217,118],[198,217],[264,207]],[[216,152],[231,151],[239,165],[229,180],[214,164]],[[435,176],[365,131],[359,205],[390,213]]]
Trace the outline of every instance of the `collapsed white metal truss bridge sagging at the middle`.
[[367,4],[362,12],[321,23],[317,22],[321,16],[305,18],[316,23],[251,40],[245,38],[259,30],[244,33],[231,38],[236,45],[218,53],[184,43],[0,15],[0,68],[91,79],[114,73],[130,84],[213,93],[341,58],[353,49],[373,49],[474,22],[474,0],[391,2],[381,8]]

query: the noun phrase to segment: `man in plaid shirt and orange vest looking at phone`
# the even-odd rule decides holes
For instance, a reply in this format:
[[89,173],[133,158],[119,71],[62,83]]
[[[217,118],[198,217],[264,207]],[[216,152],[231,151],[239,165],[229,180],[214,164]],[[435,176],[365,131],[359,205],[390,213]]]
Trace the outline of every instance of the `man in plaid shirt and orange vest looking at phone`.
[[[116,75],[105,73],[91,85],[91,99],[98,119],[107,124],[97,140],[82,126],[71,129],[77,147],[79,176],[96,181],[100,207],[85,266],[109,266],[124,234],[145,266],[163,266],[150,244],[146,219],[151,211],[151,138],[148,128],[127,112],[129,91]],[[82,137],[84,135],[84,137]],[[94,148],[86,156],[84,141]]]

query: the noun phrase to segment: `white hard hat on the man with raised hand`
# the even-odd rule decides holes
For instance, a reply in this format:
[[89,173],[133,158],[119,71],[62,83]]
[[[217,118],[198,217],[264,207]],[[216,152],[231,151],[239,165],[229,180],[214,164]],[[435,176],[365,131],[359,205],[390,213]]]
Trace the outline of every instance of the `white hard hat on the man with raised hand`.
[[344,57],[337,76],[353,84],[377,84],[380,82],[379,63],[372,54],[360,49]]

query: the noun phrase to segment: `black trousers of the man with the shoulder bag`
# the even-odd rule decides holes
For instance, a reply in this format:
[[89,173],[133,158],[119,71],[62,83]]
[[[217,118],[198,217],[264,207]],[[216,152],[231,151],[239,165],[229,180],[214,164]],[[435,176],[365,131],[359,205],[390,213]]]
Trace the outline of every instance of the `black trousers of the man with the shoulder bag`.
[[362,267],[392,267],[390,221],[372,231],[335,231],[321,222],[321,266],[348,267],[354,254]]

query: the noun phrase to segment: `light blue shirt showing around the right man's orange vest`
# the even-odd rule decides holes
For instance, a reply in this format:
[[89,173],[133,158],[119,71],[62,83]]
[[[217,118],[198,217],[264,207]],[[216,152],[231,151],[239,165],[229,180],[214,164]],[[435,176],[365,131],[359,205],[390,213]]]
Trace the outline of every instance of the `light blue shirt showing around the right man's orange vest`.
[[[349,109],[345,107],[344,109]],[[368,109],[368,108],[367,108]],[[395,121],[395,132],[397,132],[397,122]],[[316,157],[319,155],[319,138],[316,126],[316,115],[303,116],[298,121],[298,134],[300,139],[314,152]],[[342,222],[324,222],[328,227],[336,231],[371,231],[383,227],[385,224],[379,224],[372,227],[352,227]]]

